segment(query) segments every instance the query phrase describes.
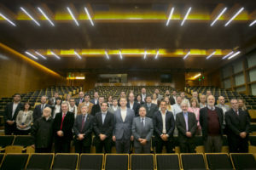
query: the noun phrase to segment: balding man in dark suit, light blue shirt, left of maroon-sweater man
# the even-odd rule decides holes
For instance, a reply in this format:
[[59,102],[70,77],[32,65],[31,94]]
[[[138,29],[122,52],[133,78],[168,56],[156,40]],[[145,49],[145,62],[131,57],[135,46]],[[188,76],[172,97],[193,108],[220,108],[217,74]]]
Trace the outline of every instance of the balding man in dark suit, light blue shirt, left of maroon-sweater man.
[[183,111],[176,116],[180,151],[181,153],[194,153],[197,128],[195,113],[188,112],[189,105],[187,102],[182,102],[181,108]]

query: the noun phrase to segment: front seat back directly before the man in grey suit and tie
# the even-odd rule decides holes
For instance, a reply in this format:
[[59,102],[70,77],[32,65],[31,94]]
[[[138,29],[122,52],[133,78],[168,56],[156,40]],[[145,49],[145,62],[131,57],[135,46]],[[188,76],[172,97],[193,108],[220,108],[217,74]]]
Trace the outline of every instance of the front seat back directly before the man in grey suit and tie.
[[153,154],[131,154],[131,169],[154,169],[154,155]]

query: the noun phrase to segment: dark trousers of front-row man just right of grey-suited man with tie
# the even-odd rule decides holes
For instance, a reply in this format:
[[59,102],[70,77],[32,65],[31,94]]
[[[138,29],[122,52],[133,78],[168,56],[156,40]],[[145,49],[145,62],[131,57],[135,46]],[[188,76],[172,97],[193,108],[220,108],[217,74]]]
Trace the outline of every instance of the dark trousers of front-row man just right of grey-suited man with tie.
[[155,144],[156,153],[162,153],[163,146],[166,146],[166,152],[167,153],[174,153],[174,151],[173,151],[174,144],[173,144],[172,139],[164,141],[160,137],[156,137],[155,138],[155,143],[156,143]]

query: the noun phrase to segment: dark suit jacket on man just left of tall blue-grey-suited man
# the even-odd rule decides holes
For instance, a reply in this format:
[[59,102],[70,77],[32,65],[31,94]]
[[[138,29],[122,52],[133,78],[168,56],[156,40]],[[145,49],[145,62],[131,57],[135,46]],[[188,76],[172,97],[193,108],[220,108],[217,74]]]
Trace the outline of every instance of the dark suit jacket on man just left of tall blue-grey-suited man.
[[96,139],[100,139],[100,133],[105,134],[107,138],[112,138],[113,133],[113,113],[107,112],[104,123],[102,124],[102,112],[96,113],[93,121],[93,130],[96,135]]

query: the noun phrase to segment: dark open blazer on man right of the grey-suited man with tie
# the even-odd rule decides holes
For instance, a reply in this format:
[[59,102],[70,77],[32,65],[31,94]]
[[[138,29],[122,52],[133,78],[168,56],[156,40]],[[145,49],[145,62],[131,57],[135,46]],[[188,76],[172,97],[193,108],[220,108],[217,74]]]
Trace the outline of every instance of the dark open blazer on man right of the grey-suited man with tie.
[[[160,137],[160,135],[163,132],[163,119],[160,111],[157,111],[155,113],[153,122],[154,122],[154,133],[155,135]],[[166,134],[169,135],[168,139],[172,139],[174,128],[175,128],[174,116],[171,111],[167,111],[166,112]]]

